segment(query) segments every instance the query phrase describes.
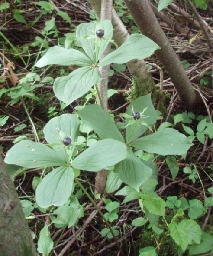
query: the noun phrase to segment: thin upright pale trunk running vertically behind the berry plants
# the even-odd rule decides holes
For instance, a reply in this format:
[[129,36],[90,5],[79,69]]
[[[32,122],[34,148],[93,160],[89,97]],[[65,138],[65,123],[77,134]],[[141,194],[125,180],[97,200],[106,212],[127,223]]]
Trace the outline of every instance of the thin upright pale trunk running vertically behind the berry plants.
[[[101,1],[101,12],[100,20],[111,20],[112,19],[112,6],[113,0],[102,0]],[[103,52],[100,60],[102,60],[107,54],[110,53],[111,44],[109,43],[107,49]],[[101,66],[99,68],[100,74],[102,76],[102,81],[98,84],[98,90],[100,92],[100,97],[103,103],[103,108],[107,111],[107,88],[108,88],[108,77],[110,65]],[[97,103],[100,105],[100,99],[97,97]],[[107,170],[103,169],[100,172],[97,172],[95,178],[95,193],[104,193],[105,186],[107,182]]]

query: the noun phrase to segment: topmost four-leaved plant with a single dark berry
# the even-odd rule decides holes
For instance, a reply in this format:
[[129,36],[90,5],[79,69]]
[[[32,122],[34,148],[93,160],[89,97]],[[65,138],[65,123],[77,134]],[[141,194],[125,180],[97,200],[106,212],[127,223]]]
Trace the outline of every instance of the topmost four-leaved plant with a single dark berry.
[[107,48],[107,45],[112,42],[112,37],[113,27],[110,20],[104,20],[100,23],[80,24],[76,30],[76,38],[81,43],[85,53],[55,46],[51,47],[35,64],[37,67],[50,64],[81,66],[68,76],[56,78],[53,90],[59,100],[68,105],[99,83],[102,79],[98,70],[99,66],[109,65],[110,63],[123,64],[132,59],[142,60],[159,49],[158,45],[148,37],[134,34],[121,47],[99,62],[101,54]]

